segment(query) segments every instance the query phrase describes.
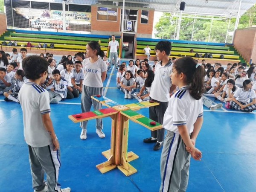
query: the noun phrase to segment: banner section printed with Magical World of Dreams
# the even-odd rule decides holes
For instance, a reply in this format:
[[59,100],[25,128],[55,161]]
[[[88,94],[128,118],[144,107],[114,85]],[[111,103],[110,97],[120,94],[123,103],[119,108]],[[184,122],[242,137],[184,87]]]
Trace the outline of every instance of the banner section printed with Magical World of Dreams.
[[[51,10],[50,15],[51,15],[51,19],[53,20],[62,20],[63,12],[57,11],[57,10]],[[65,15],[66,15],[66,20],[91,22],[91,13],[66,11]]]

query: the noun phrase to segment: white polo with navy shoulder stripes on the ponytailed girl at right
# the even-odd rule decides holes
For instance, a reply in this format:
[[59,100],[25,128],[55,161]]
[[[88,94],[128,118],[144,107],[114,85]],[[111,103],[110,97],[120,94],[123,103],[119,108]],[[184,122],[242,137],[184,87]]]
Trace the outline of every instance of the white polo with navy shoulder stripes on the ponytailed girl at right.
[[188,88],[189,86],[181,87],[172,95],[163,117],[163,128],[177,134],[180,134],[178,125],[186,125],[191,134],[197,118],[203,116],[203,99],[194,99]]

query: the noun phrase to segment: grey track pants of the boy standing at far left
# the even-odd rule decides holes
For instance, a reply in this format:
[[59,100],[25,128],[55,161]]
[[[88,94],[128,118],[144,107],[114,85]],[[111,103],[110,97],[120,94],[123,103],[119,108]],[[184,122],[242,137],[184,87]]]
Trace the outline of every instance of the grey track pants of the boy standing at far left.
[[44,189],[44,173],[49,192],[58,192],[59,169],[61,167],[61,151],[53,151],[54,146],[51,143],[45,147],[29,146],[29,163],[32,175],[32,187],[37,191]]

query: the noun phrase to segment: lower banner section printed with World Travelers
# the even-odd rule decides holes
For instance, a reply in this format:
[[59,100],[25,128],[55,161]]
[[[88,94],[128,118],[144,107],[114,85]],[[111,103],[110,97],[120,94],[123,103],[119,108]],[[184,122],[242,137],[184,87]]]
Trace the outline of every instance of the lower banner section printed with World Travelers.
[[61,20],[51,20],[51,19],[30,19],[32,28],[44,28],[44,29],[62,29]]

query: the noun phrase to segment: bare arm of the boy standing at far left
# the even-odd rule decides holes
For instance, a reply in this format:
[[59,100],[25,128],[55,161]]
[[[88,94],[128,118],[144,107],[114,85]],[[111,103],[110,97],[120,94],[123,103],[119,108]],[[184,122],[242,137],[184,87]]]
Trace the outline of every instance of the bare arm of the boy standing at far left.
[[50,113],[42,114],[42,120],[43,120],[44,128],[49,133],[49,135],[52,137],[52,143],[55,147],[53,149],[53,151],[56,151],[59,148],[59,143],[58,143],[58,138],[56,137],[53,126],[52,126],[52,120],[50,118]]

